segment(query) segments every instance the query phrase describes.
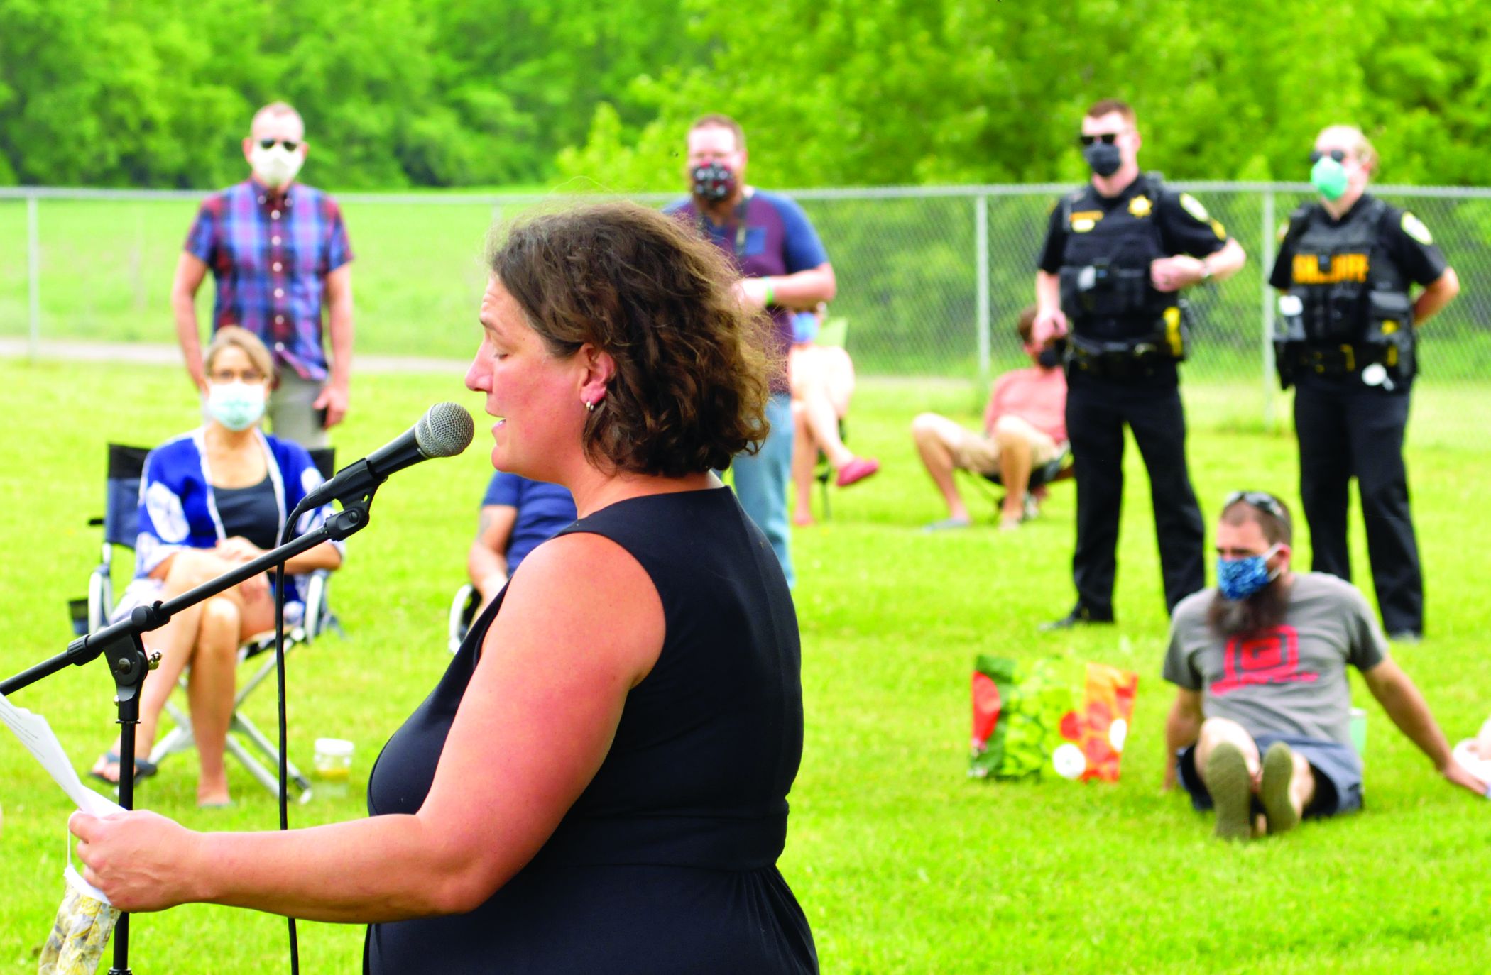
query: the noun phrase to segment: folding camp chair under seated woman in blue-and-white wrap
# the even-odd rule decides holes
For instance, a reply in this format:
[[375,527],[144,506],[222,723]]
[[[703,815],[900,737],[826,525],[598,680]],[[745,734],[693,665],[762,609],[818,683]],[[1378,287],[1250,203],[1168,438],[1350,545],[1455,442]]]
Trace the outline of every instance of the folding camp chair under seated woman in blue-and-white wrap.
[[[69,602],[73,617],[73,632],[79,637],[104,626],[104,623],[109,622],[110,611],[113,610],[113,547],[119,546],[122,549],[128,549],[130,552],[134,550],[134,543],[139,535],[140,477],[145,473],[145,456],[148,453],[149,450],[145,447],[109,444],[109,474],[104,496],[104,514],[103,517],[88,520],[89,525],[103,528],[101,559],[88,575],[88,598],[73,599]],[[335,471],[335,459],[331,449],[312,450],[310,456],[324,477],[332,476]],[[327,605],[327,580],[330,575],[331,574],[325,569],[312,572],[310,581],[303,593],[306,607],[304,616],[297,626],[286,628],[285,632],[286,653],[298,644],[310,643],[327,628],[340,631],[335,616],[332,616],[330,607]],[[261,732],[242,710],[243,701],[253,693],[253,689],[274,672],[273,650],[273,632],[253,637],[239,647],[239,663],[252,657],[262,657],[262,660],[253,675],[249,677],[248,681],[240,683],[237,695],[234,696],[227,750],[243,763],[253,778],[256,778],[277,798],[279,748],[274,747],[264,732]],[[182,687],[186,686],[185,674],[179,680],[179,684]],[[167,756],[177,751],[188,751],[194,747],[191,717],[186,711],[179,708],[171,701],[167,701],[166,711],[176,722],[176,728],[160,738],[151,750],[149,760],[155,763],[160,763]],[[270,768],[265,768],[264,763],[248,747],[245,747],[245,742],[239,741],[239,738],[243,738],[249,745],[259,751],[268,762]],[[303,775],[294,763],[289,765],[289,780],[300,787],[301,802],[304,802],[310,795],[310,780],[306,778],[306,775]]]

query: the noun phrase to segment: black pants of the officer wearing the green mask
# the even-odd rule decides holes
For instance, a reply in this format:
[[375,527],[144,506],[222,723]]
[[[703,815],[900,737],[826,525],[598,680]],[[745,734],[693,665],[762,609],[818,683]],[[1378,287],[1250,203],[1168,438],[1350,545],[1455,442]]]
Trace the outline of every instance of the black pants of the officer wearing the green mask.
[[1409,394],[1370,388],[1300,386],[1294,429],[1300,441],[1300,499],[1309,522],[1311,568],[1351,580],[1346,486],[1357,479],[1367,558],[1382,626],[1424,632],[1424,577],[1408,502],[1403,428]]

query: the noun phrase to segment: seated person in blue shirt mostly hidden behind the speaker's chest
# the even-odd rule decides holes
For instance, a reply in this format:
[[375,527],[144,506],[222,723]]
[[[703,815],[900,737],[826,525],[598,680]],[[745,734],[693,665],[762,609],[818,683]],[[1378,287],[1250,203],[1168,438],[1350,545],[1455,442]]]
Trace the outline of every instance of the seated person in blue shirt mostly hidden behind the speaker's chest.
[[574,498],[567,488],[497,471],[482,498],[482,520],[467,555],[467,574],[492,601],[517,564],[576,519]]

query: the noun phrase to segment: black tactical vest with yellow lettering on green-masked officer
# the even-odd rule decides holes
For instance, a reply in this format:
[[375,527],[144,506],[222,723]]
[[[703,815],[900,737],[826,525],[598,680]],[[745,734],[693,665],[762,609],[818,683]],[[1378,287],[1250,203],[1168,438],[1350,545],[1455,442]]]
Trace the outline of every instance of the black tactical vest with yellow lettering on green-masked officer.
[[1318,203],[1290,215],[1290,294],[1302,304],[1305,341],[1378,341],[1375,332],[1385,324],[1412,334],[1408,282],[1382,244],[1391,209],[1375,197],[1357,206],[1364,212],[1343,224],[1331,224]]

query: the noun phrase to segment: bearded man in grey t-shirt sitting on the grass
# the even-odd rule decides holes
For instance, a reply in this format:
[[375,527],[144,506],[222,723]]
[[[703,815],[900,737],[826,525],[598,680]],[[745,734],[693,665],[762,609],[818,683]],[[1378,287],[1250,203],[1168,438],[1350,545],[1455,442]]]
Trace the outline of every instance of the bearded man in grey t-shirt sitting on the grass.
[[1220,584],[1182,599],[1170,622],[1164,678],[1178,693],[1164,728],[1164,787],[1178,774],[1197,810],[1215,807],[1223,839],[1361,808],[1351,663],[1445,778],[1485,795],[1388,657],[1363,595],[1334,575],[1290,571],[1290,537],[1288,510],[1273,495],[1236,492],[1223,505]]

